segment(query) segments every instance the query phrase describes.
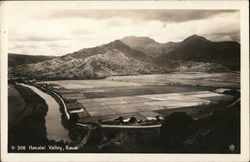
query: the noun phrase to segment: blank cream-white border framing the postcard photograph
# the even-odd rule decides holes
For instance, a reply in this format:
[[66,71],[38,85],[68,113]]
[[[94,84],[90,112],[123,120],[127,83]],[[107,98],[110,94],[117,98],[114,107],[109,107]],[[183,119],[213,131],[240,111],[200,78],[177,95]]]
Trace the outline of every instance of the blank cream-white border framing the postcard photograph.
[[[241,154],[7,153],[7,10],[27,9],[239,9],[241,12]],[[248,1],[9,1],[1,3],[1,161],[249,161]]]

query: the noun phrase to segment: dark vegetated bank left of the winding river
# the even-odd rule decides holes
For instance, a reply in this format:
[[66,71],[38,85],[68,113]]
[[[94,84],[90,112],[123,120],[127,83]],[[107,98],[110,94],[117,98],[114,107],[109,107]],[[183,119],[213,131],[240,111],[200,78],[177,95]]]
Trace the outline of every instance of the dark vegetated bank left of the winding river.
[[[15,85],[25,101],[25,107],[19,114],[19,122],[8,130],[9,145],[41,144],[47,140],[45,116],[48,106],[31,89]],[[16,106],[18,110],[19,107]]]

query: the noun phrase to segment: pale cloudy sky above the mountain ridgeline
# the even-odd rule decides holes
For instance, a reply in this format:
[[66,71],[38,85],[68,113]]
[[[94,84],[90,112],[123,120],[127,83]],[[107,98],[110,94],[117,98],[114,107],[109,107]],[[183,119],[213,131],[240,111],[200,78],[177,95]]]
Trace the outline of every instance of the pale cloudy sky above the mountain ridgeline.
[[197,34],[240,42],[237,10],[22,10],[9,11],[9,53],[61,56],[125,36],[179,42]]

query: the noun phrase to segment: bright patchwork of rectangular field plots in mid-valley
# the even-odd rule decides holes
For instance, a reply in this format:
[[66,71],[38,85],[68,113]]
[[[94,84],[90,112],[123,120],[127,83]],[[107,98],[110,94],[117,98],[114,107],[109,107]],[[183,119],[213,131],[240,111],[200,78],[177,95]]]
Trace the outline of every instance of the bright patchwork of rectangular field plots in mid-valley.
[[[195,107],[214,103],[206,97],[222,97],[223,100],[230,100],[232,96],[217,94],[209,91],[187,93],[168,93],[153,95],[138,95],[130,97],[98,98],[86,102],[86,99],[78,100],[89,113],[92,120],[108,119],[119,116],[139,116],[146,119],[162,115],[157,110],[178,109],[184,107]],[[222,100],[221,98],[221,100]],[[88,122],[90,119],[83,118],[81,122]]]

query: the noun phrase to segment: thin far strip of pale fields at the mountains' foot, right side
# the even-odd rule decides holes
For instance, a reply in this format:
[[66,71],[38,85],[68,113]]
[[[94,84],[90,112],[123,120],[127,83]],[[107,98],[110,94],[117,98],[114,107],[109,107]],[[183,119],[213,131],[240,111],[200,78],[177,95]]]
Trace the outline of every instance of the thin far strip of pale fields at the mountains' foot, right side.
[[183,84],[207,87],[240,87],[239,73],[171,73],[140,76],[110,77],[107,80],[134,82],[146,85]]

